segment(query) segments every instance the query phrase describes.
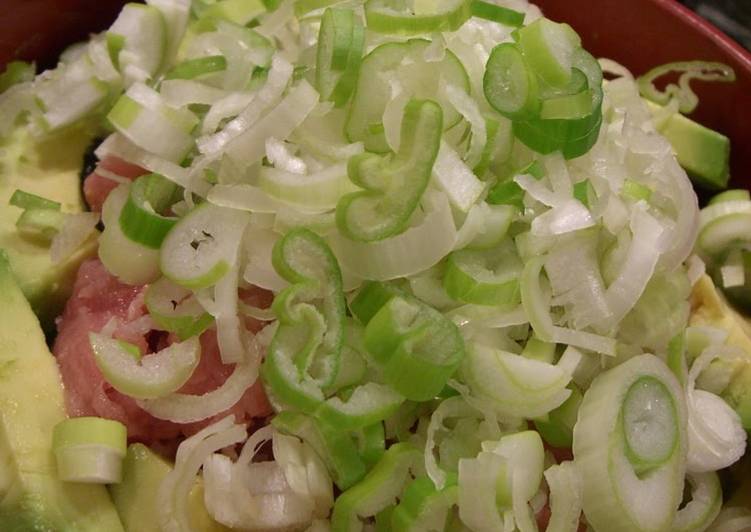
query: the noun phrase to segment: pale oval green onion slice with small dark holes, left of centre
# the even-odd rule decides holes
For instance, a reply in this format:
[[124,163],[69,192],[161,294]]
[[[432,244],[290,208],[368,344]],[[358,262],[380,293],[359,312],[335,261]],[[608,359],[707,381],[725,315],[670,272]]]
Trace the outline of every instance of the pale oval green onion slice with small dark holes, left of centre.
[[164,238],[160,267],[171,281],[197,290],[215,284],[234,264],[248,213],[204,203],[181,218]]

